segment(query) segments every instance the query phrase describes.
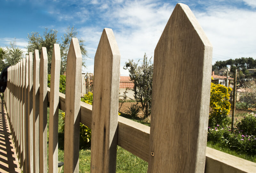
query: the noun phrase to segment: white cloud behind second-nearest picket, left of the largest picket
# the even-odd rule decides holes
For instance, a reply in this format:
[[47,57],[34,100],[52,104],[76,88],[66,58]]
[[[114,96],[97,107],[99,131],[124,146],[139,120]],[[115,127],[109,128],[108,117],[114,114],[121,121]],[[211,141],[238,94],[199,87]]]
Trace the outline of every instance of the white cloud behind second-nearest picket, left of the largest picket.
[[[154,55],[154,49],[163,32],[173,6],[168,4],[150,4],[148,1],[126,2],[123,7],[106,12],[104,19],[113,26],[113,32],[121,54],[121,75],[129,75],[124,70],[124,64],[128,59],[143,59],[144,53],[148,57]],[[103,28],[80,28],[79,35],[86,40],[88,55],[94,58],[100,41]],[[153,59],[152,59],[153,61]],[[86,62],[87,69],[92,70],[92,62]],[[93,72],[93,71],[90,71]]]

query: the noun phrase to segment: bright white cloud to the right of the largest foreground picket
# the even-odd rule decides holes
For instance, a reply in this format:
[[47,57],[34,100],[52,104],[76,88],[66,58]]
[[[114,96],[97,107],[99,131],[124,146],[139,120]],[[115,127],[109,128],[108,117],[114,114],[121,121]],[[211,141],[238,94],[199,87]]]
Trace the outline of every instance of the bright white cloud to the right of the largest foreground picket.
[[230,58],[256,58],[256,12],[211,7],[207,13],[195,15],[213,45],[213,63]]

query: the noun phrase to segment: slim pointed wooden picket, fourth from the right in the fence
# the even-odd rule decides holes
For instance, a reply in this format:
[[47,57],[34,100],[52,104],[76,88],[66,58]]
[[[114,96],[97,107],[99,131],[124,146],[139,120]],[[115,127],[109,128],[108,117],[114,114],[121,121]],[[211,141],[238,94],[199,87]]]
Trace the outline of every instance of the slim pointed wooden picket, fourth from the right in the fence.
[[51,66],[51,93],[49,112],[49,172],[58,172],[58,120],[60,90],[60,46],[54,44]]

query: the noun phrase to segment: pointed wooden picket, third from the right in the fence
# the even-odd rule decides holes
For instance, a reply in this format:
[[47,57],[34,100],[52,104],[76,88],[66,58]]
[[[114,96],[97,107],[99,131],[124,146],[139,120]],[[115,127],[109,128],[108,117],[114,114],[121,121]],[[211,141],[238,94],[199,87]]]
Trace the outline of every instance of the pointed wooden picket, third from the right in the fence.
[[78,173],[82,54],[77,38],[69,46],[66,74],[64,172]]

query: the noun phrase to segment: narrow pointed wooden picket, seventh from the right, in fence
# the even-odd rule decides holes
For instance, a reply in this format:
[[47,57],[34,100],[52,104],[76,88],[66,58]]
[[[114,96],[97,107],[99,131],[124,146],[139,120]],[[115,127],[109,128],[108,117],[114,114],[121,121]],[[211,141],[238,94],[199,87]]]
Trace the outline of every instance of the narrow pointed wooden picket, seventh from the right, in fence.
[[28,58],[28,133],[29,133],[29,162],[30,173],[34,172],[33,168],[33,53],[29,52]]

